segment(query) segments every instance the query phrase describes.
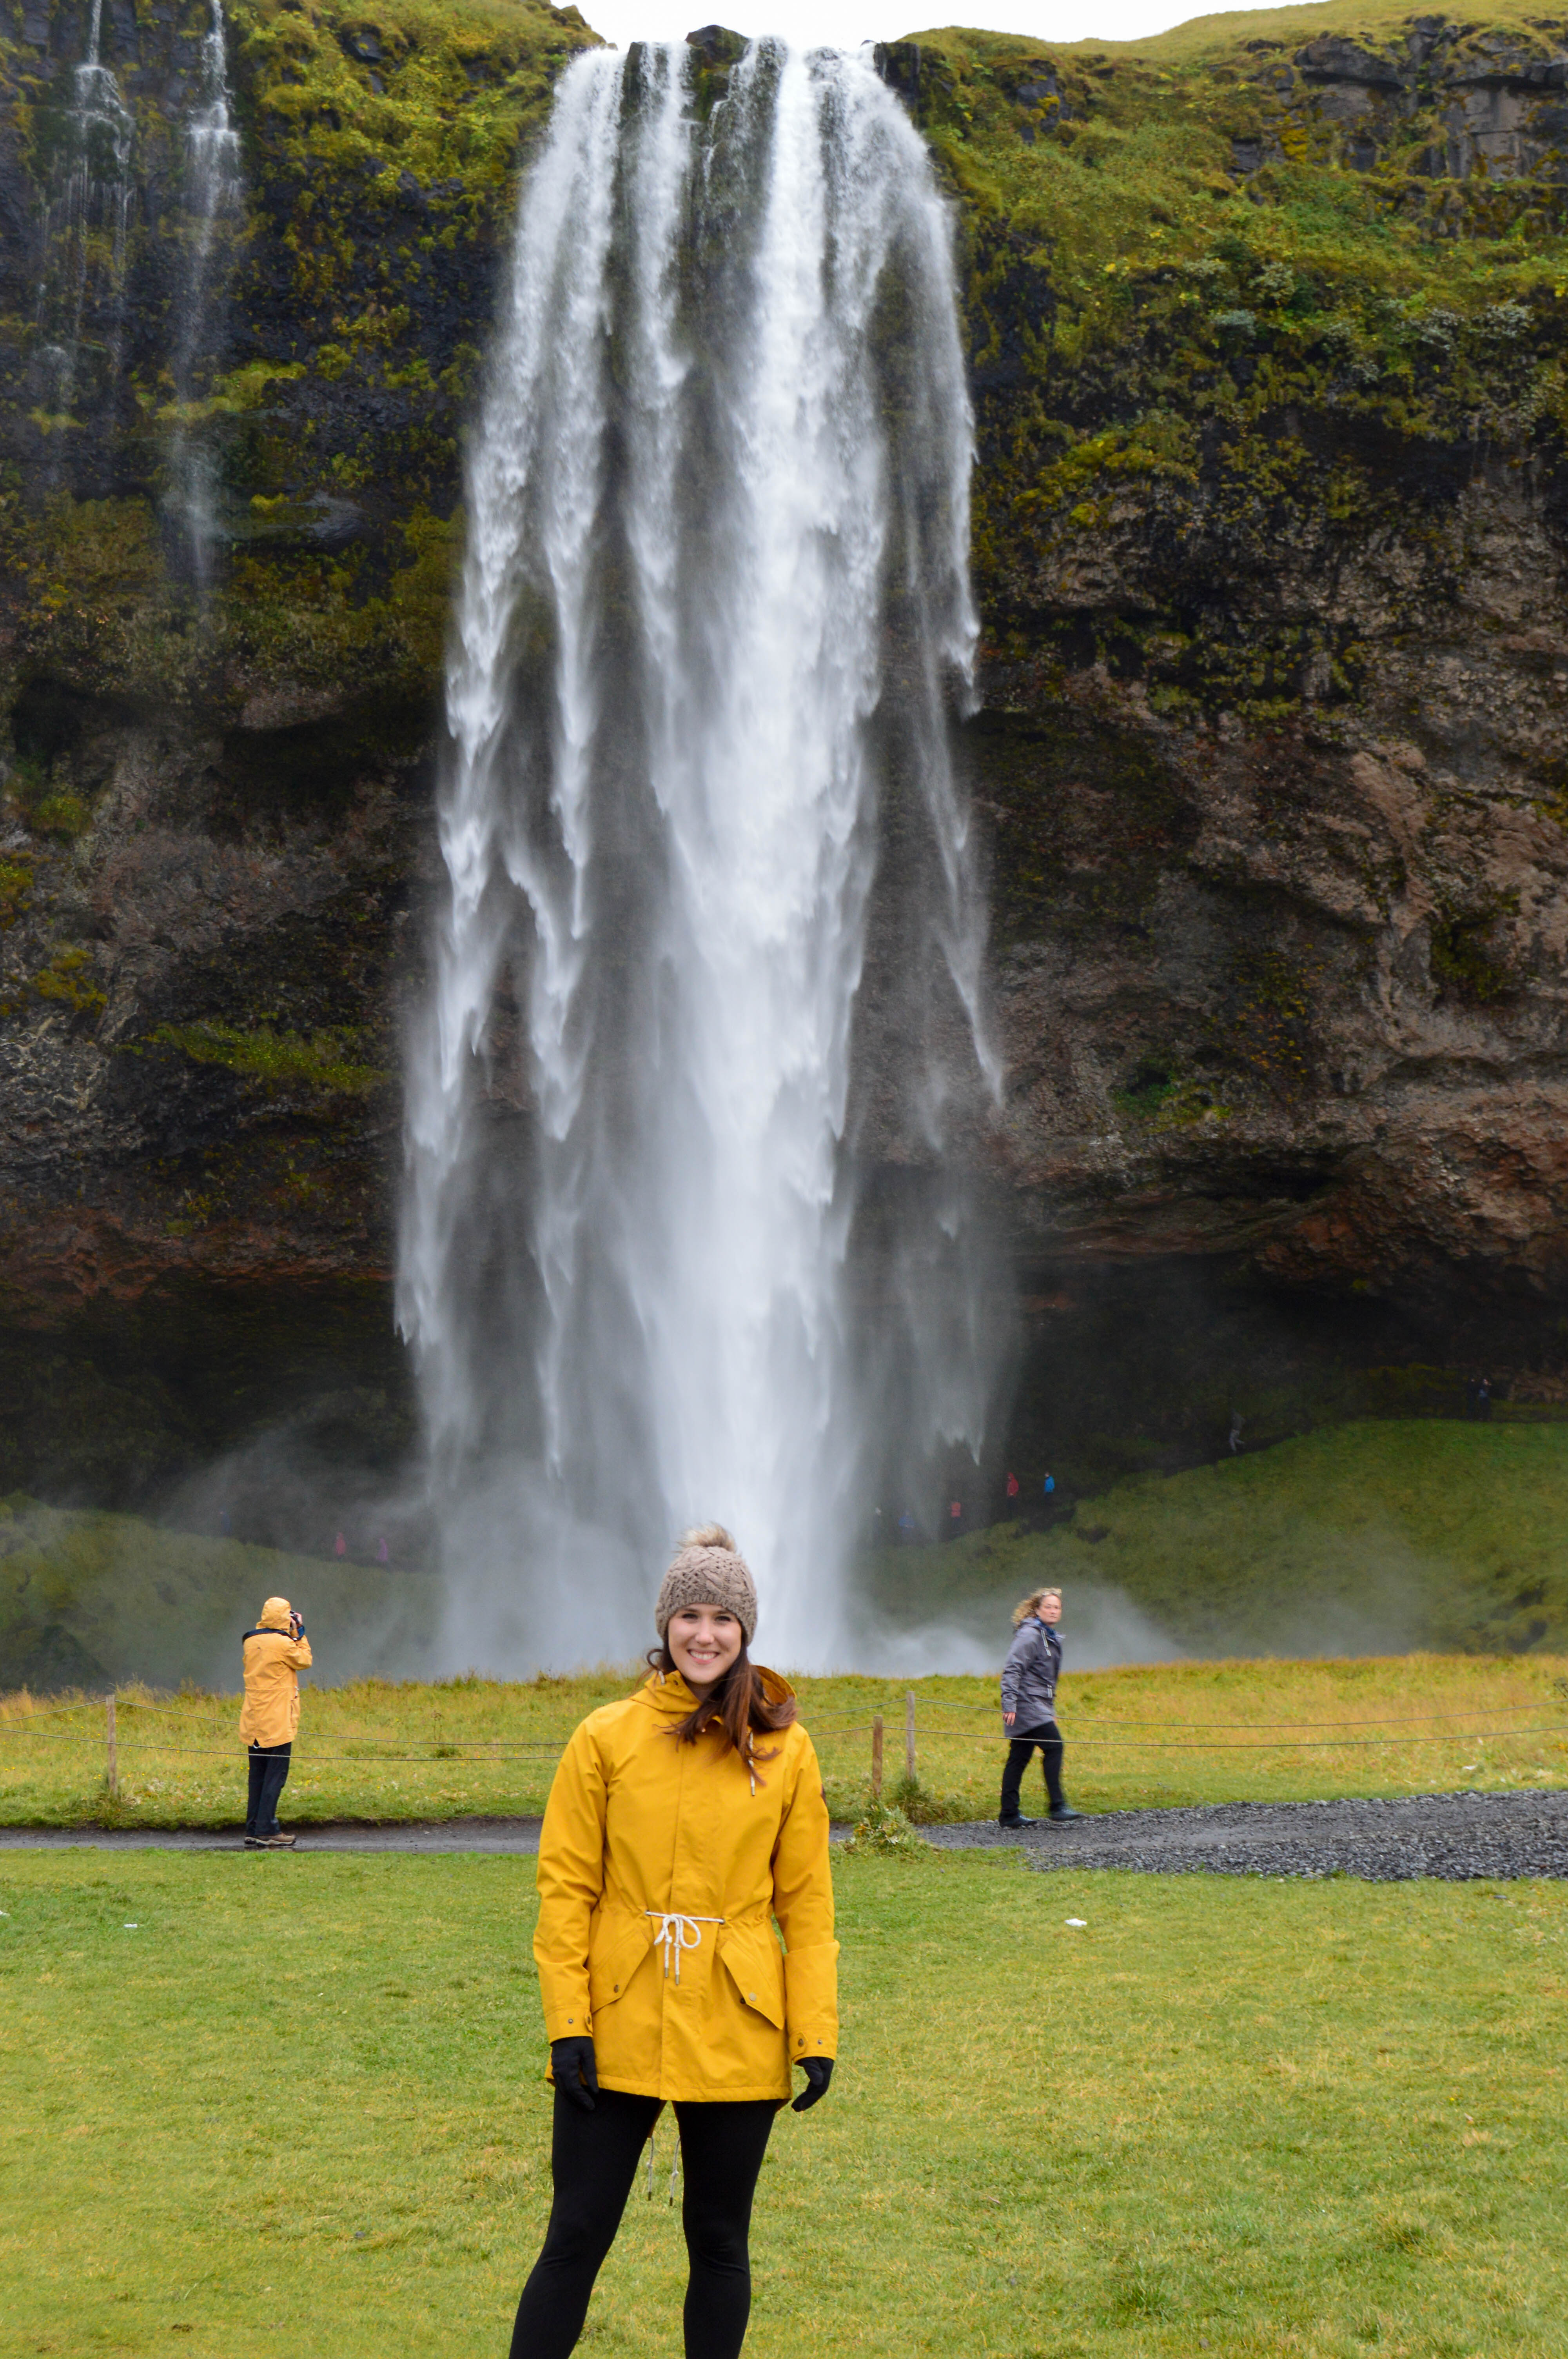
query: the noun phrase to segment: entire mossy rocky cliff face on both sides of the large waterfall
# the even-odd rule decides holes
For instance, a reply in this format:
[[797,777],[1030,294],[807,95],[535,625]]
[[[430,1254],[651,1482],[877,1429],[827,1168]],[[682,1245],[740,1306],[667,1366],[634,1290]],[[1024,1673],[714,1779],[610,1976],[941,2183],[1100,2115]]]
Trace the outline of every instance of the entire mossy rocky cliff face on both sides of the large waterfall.
[[[198,285],[205,5],[108,0],[120,113],[0,26],[0,1479],[391,1458],[457,434],[589,35],[236,7]],[[1021,1448],[1563,1356],[1568,26],[1269,26],[882,57],[969,267]]]

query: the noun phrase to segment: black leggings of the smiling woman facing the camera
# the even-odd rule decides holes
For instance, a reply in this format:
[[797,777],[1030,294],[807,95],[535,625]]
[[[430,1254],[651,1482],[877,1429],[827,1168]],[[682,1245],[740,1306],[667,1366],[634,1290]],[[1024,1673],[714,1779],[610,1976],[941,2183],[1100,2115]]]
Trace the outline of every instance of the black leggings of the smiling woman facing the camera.
[[[686,2359],[738,2359],[752,2312],[747,2229],[752,2194],[773,2128],[773,2097],[740,2104],[677,2104],[681,2125],[681,2227]],[[627,2208],[637,2158],[658,2121],[658,2097],[601,2088],[592,2114],[556,2090],[549,2173],[554,2203],[545,2250],[516,2305],[512,2359],[566,2359],[587,2298]]]

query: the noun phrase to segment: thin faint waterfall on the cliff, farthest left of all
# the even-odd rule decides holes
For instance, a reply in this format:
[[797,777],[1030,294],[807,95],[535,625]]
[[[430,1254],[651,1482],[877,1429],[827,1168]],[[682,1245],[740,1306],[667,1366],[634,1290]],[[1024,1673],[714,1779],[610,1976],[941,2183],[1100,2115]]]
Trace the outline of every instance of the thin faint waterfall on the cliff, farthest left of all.
[[101,33],[104,0],[92,0],[87,57],[73,68],[71,83],[64,193],[45,217],[40,328],[50,340],[40,359],[45,406],[61,418],[78,401],[90,304],[106,328],[101,382],[94,392],[113,396],[120,370],[134,120],[113,71],[99,61]]

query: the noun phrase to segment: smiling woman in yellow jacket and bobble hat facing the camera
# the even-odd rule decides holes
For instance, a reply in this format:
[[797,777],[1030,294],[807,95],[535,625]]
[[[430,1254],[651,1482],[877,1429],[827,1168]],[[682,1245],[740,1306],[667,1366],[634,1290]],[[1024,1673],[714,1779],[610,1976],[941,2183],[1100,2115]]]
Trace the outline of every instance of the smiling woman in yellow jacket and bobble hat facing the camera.
[[736,2359],[790,2066],[806,2074],[797,2114],[832,2078],[823,1776],[790,1687],[747,1656],[757,1588],[722,1524],[684,1536],[653,1621],[648,1680],[573,1734],[540,1833],[554,2203],[512,2359],[575,2350],[663,2104],[681,2137],[686,2359]]

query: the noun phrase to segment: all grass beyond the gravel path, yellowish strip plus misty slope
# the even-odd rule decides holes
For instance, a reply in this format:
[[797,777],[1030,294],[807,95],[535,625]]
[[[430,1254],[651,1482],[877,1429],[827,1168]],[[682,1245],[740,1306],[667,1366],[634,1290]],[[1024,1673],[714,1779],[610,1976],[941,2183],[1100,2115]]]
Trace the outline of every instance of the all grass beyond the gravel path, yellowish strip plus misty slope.
[[[868,1578],[887,1623],[948,1623],[997,1663],[1012,1602],[1061,1583],[1082,1807],[1540,1786],[1568,1762],[1563,1531],[1568,1427],[1368,1420],[1132,1477],[1049,1533],[896,1550]],[[85,1661],[120,1682],[120,1793],[104,1793],[101,1698],[71,1713],[0,1701],[0,1819],[233,1824],[238,1713],[217,1689],[238,1682],[238,1632],[274,1590],[307,1606],[316,1649],[288,1788],[299,1824],[538,1812],[575,1722],[634,1677],[351,1677],[365,1658],[417,1661],[429,1578],[14,1500],[0,1510],[0,1665],[45,1661],[87,1687],[71,1670]],[[1075,1670],[1096,1647],[1195,1661]],[[149,1677],[156,1689],[137,1684]],[[990,1814],[995,1680],[960,1675],[802,1680],[832,1809],[865,1802],[875,1713],[889,1786],[898,1776],[910,1689],[917,1809]]]

